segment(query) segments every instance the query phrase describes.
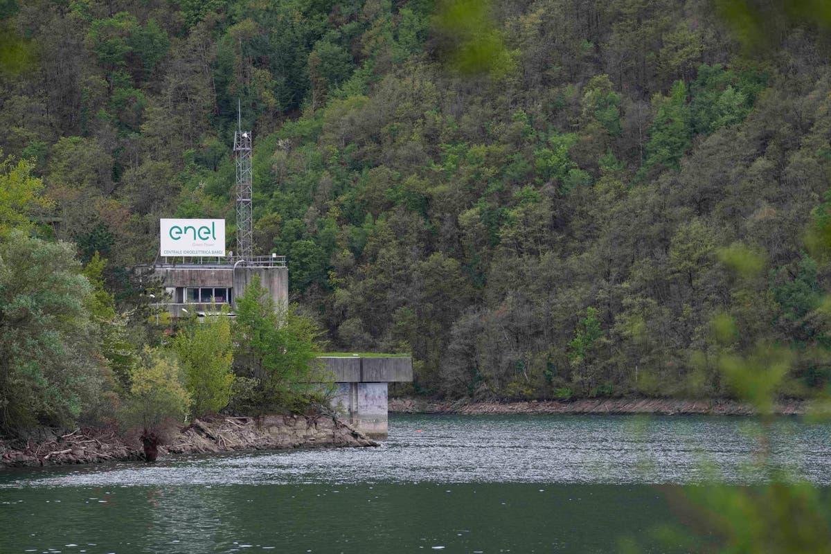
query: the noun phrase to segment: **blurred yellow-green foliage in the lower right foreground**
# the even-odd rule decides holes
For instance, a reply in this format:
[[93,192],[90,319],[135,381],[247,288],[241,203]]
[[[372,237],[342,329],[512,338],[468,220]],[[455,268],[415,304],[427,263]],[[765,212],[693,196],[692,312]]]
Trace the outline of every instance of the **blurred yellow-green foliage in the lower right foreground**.
[[[734,243],[719,252],[720,261],[730,268],[736,277],[732,296],[736,299],[759,287],[753,277],[765,267],[764,259],[744,245]],[[801,320],[805,311],[816,309],[821,303],[816,286],[816,262],[804,257],[793,280],[774,287],[773,296],[783,306],[796,309],[784,312],[789,321]],[[772,272],[780,277],[783,270]],[[806,298],[811,298],[806,302]],[[799,307],[804,306],[804,309]],[[735,312],[738,313],[738,312]],[[759,336],[758,329],[741,326],[727,313],[713,318],[712,332],[720,345],[715,353],[717,370],[735,398],[745,401],[755,409],[760,426],[752,435],[756,441],[754,459],[747,468],[755,483],[747,486],[728,485],[720,482],[714,471],[706,483],[682,488],[682,493],[671,493],[671,501],[677,509],[686,512],[691,527],[684,532],[666,528],[656,534],[667,545],[677,547],[689,543],[693,535],[700,533],[714,542],[717,552],[769,552],[791,554],[793,552],[831,552],[831,511],[827,495],[813,483],[800,481],[774,458],[770,449],[772,424],[777,417],[775,406],[784,382],[794,373],[794,366],[806,356],[801,345],[782,345]],[[739,353],[736,346],[742,341],[753,343],[752,350]],[[814,364],[831,363],[829,351],[814,351],[808,355]],[[696,353],[698,363],[706,363],[706,354]],[[827,423],[831,390],[827,387],[810,405],[807,418],[814,423]],[[623,550],[638,552],[637,544],[624,541]]]

